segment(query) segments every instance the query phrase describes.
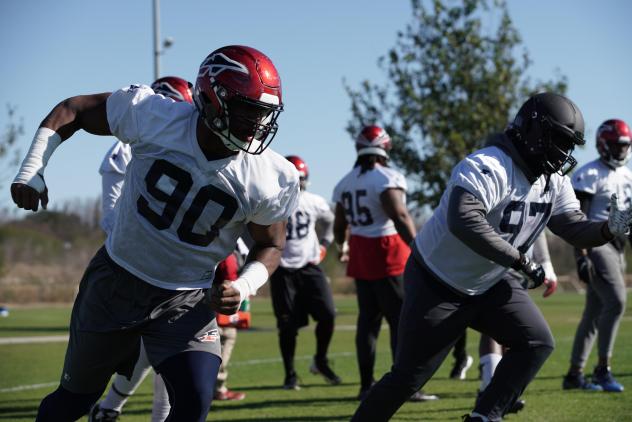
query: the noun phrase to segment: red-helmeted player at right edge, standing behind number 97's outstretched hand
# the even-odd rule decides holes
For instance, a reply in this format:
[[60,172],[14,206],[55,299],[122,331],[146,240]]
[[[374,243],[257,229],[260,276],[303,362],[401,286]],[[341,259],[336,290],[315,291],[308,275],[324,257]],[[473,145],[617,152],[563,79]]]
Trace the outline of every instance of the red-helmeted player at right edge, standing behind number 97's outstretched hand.
[[[629,205],[632,202],[632,172],[626,166],[632,155],[629,126],[619,119],[606,120],[597,129],[599,158],[573,174],[573,187],[582,210],[593,221],[608,219],[612,194]],[[610,370],[619,322],[626,304],[625,236],[592,249],[577,250],[577,271],[586,282],[586,305],[575,333],[571,365],[564,377],[564,389],[623,391]],[[597,339],[598,362],[592,382],[583,370]]]

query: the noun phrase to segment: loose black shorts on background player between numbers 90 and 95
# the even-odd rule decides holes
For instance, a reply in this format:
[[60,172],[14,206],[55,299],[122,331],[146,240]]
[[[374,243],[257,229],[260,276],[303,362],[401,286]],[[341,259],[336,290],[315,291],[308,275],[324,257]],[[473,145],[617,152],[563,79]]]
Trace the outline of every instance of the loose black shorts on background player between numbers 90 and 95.
[[270,290],[279,329],[304,327],[308,315],[316,321],[335,318],[331,287],[317,265],[277,268],[270,277]]

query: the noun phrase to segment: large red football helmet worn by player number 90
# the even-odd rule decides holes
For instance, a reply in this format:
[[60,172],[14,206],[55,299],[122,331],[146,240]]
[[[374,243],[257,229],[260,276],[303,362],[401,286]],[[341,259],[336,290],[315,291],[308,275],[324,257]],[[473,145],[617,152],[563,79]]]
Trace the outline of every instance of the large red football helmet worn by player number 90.
[[222,47],[200,65],[193,101],[226,148],[261,154],[274,139],[283,111],[281,79],[262,52],[240,45]]

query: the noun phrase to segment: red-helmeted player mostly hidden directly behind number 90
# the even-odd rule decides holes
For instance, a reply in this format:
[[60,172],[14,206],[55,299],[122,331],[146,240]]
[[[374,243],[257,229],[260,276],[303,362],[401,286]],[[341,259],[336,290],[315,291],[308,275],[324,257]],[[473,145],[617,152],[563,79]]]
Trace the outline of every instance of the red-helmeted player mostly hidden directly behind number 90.
[[[191,92],[192,85],[190,82],[175,76],[166,76],[159,78],[151,84],[154,93],[171,98],[174,101],[186,101],[193,103]],[[121,190],[125,179],[127,166],[132,159],[132,150],[129,144],[116,141],[108,150],[101,166],[99,173],[101,174],[101,227],[106,234],[109,234],[114,224],[115,212],[114,206],[121,196]],[[151,369],[151,363],[147,358],[145,347],[140,345],[140,353],[138,361],[134,367],[132,377],[128,379],[123,375],[117,375],[105,399],[101,403],[95,404],[90,410],[88,420],[90,422],[110,422],[117,420],[123,409],[123,406],[131,395],[134,394],[136,388],[143,382]],[[167,411],[168,413],[168,411]],[[154,418],[152,420],[160,421],[164,418]]]

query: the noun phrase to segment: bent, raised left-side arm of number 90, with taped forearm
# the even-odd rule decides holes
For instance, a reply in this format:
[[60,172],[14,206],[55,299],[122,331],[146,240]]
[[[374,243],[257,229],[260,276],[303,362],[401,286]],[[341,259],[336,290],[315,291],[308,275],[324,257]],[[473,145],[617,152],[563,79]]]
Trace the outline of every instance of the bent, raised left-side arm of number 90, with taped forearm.
[[11,184],[11,197],[18,208],[37,211],[48,204],[44,169],[55,149],[79,129],[95,135],[111,135],[106,101],[110,93],[81,95],[57,104],[44,118],[31,147]]

